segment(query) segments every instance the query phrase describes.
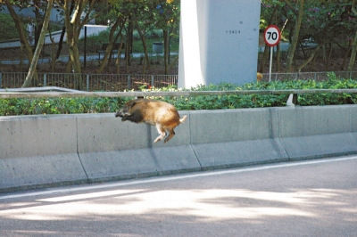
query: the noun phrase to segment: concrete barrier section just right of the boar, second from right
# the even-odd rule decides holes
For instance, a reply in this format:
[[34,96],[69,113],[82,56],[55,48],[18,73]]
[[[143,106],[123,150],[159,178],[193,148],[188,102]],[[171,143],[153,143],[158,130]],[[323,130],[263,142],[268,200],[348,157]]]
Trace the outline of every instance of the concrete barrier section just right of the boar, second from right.
[[287,160],[275,109],[200,110],[190,116],[191,143],[203,169]]

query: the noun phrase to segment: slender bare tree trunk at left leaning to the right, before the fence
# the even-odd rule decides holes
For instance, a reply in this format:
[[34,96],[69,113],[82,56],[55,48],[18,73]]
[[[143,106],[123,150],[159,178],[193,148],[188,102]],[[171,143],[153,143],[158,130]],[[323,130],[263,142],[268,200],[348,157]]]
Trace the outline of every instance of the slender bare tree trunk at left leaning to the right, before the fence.
[[27,75],[22,87],[29,87],[31,84],[31,79],[32,79],[32,77],[35,73],[35,70],[36,70],[39,54],[41,53],[42,46],[44,45],[44,42],[45,42],[46,30],[48,27],[48,22],[50,21],[51,9],[52,9],[53,5],[54,5],[54,0],[48,0],[46,15],[45,15],[44,23],[42,25],[41,34],[39,35],[38,44],[36,46],[35,54],[31,61],[31,65],[29,66],[28,75]]

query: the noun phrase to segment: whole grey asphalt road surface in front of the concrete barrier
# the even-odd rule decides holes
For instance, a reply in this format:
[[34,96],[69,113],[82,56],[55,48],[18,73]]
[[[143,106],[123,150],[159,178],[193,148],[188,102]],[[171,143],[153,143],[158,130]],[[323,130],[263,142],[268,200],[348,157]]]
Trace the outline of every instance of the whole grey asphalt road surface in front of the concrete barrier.
[[0,194],[0,236],[357,236],[357,156]]

